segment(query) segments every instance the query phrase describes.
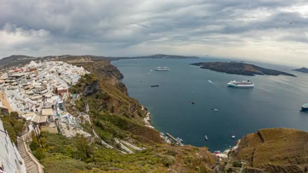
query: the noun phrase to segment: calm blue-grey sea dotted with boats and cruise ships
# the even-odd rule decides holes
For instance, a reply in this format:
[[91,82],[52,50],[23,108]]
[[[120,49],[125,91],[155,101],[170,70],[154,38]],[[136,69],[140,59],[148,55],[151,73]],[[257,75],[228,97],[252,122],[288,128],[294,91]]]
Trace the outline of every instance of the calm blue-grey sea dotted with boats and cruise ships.
[[[308,102],[308,74],[291,71],[294,67],[258,62],[253,63],[298,77],[234,75],[189,65],[205,61],[230,60],[135,59],[112,64],[124,74],[122,82],[129,95],[150,111],[151,124],[163,133],[182,138],[184,144],[222,151],[260,128],[289,127],[308,131],[308,113],[300,111],[300,106]],[[170,71],[154,70],[163,66]],[[228,88],[226,83],[234,79],[252,80],[255,87]],[[160,87],[150,87],[156,84]],[[195,105],[188,101],[194,101]],[[232,135],[236,139],[232,139]]]

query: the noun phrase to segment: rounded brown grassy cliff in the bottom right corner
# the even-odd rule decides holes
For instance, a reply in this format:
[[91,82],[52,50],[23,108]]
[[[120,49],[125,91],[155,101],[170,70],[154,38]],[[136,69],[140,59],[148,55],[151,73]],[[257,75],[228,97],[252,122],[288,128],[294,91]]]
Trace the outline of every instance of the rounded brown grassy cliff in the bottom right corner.
[[241,139],[233,157],[268,172],[306,172],[308,133],[289,128],[266,128]]

